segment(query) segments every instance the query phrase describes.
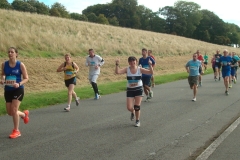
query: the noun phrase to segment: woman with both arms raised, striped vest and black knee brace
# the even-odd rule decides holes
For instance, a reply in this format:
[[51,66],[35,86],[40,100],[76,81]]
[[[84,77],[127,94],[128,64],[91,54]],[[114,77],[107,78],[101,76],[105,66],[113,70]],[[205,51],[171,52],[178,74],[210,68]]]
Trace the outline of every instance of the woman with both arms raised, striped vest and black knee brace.
[[129,67],[120,69],[119,60],[116,60],[116,74],[127,74],[127,109],[131,112],[130,119],[134,120],[134,112],[136,117],[135,127],[140,127],[140,105],[142,101],[142,73],[153,74],[152,62],[148,61],[149,69],[137,66],[137,59],[135,57],[128,58]]

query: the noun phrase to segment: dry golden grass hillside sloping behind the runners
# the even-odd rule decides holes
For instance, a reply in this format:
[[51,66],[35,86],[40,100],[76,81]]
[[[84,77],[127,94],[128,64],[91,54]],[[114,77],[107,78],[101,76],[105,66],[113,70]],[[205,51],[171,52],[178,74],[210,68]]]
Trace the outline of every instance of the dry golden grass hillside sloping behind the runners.
[[114,61],[126,66],[129,55],[141,57],[141,49],[152,49],[156,58],[156,75],[184,71],[191,54],[200,50],[210,57],[217,49],[239,54],[239,49],[205,43],[184,37],[74,21],[16,11],[0,10],[0,62],[7,59],[7,49],[19,49],[19,59],[27,66],[30,82],[27,92],[63,89],[63,73],[57,67],[70,52],[80,67],[78,86],[88,84],[85,57],[94,48],[106,61],[99,82],[122,80],[114,75]]

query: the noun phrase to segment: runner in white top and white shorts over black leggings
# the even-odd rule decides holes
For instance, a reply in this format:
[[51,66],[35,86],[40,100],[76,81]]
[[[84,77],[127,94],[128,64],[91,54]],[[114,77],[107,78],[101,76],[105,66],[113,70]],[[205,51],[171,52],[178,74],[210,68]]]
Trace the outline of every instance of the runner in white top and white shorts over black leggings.
[[86,66],[89,66],[88,79],[95,93],[95,98],[98,100],[101,96],[98,91],[97,79],[100,74],[100,67],[104,64],[104,60],[99,55],[95,55],[93,49],[88,50],[89,56],[86,58]]

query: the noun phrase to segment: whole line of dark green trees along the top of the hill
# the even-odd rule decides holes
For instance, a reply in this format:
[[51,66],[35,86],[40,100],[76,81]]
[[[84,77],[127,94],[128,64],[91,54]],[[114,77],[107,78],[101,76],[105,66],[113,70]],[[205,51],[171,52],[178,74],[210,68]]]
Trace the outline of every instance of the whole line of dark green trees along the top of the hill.
[[194,2],[177,1],[157,12],[138,5],[137,0],[112,0],[88,6],[82,14],[70,13],[58,2],[49,7],[38,0],[14,0],[11,4],[0,0],[0,8],[173,34],[219,45],[240,44],[238,25],[225,23]]

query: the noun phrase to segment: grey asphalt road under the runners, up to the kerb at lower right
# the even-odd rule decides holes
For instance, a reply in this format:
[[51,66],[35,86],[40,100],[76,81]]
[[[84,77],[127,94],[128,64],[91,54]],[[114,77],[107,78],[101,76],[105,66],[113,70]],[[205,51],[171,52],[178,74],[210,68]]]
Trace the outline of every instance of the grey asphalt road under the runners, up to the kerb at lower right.
[[153,99],[142,102],[138,128],[130,121],[125,92],[73,103],[70,112],[63,111],[66,104],[31,110],[17,139],[8,138],[11,117],[1,116],[0,159],[195,159],[239,117],[239,88],[234,84],[226,96],[223,81],[205,75],[192,102],[187,80],[157,85]]

